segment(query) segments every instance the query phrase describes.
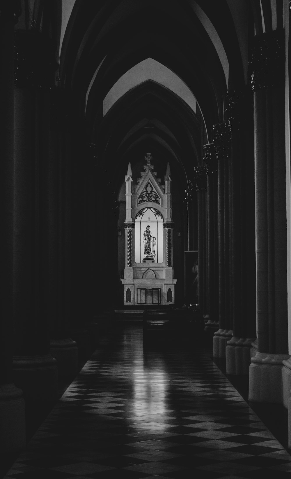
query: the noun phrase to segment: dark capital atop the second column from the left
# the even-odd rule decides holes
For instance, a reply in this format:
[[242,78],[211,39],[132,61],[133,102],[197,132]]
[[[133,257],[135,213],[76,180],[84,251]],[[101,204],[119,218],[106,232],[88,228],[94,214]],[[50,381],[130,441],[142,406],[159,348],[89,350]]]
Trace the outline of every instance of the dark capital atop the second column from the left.
[[19,30],[14,34],[14,86],[47,88],[58,68],[52,41],[44,34]]

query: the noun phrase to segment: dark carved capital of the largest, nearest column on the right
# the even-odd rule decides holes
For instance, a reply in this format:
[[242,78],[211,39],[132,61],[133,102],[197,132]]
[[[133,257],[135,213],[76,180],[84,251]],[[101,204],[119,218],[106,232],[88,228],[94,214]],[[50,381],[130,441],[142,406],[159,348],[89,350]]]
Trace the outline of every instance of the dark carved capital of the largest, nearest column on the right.
[[263,33],[254,37],[249,62],[253,90],[285,85],[284,30]]

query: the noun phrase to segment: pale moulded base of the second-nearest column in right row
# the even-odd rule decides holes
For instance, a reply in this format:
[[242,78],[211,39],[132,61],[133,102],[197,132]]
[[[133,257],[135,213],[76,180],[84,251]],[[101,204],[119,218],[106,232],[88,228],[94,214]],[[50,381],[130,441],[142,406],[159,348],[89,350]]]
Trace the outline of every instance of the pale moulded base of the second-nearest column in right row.
[[226,374],[248,376],[250,348],[254,338],[233,337],[226,346]]

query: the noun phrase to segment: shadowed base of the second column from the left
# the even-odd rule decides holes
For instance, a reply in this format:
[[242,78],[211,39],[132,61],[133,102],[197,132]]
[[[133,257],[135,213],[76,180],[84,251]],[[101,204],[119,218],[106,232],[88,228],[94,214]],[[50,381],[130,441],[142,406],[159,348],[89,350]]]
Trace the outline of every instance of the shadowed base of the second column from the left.
[[49,402],[58,398],[56,359],[44,356],[14,356],[13,379],[23,391],[24,399]]

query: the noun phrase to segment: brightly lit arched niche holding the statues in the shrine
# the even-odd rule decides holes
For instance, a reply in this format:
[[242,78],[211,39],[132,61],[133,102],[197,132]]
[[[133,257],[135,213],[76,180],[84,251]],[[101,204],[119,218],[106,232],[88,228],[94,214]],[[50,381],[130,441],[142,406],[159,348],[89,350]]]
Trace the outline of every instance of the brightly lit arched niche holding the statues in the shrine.
[[163,262],[163,217],[155,208],[141,209],[135,218],[135,262]]

